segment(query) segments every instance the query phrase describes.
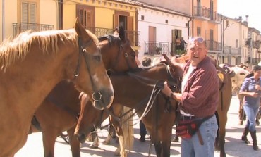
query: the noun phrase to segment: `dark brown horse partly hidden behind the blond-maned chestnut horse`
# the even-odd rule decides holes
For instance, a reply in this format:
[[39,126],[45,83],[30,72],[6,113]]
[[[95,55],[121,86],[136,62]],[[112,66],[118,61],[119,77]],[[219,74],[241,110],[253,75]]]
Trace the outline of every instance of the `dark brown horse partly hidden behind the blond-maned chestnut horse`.
[[[99,37],[99,46],[106,69],[124,72],[138,68],[135,62],[135,51],[125,37],[122,27],[114,34]],[[66,130],[73,157],[80,156],[80,143],[77,137],[73,136],[80,114],[79,94],[72,82],[64,80],[54,87],[37,109],[30,132],[42,131],[44,156],[54,156],[56,137]]]

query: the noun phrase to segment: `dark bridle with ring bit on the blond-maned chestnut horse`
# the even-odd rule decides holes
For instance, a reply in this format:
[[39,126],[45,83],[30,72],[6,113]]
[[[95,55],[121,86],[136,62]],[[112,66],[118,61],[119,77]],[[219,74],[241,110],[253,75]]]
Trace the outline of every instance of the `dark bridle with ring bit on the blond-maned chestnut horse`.
[[[92,39],[90,39],[87,44],[85,44],[85,46],[89,46],[90,44],[92,43]],[[87,70],[89,71],[90,73],[90,66],[87,62],[87,58],[88,58],[88,51],[86,49],[83,49],[83,41],[80,37],[78,37],[78,46],[79,46],[79,58],[78,58],[78,64],[77,64],[77,67],[76,67],[76,70],[75,70],[75,73],[74,73],[74,78],[75,77],[78,77],[79,76],[79,69],[80,69],[80,63],[81,63],[81,54],[83,54],[83,56],[85,57],[85,63],[86,63],[86,66],[87,66]],[[93,87],[93,80],[92,80],[92,77],[90,75],[90,81],[92,83],[92,89],[94,88]],[[102,99],[102,94],[100,92],[93,92],[92,93],[92,99],[94,101],[99,101],[100,99]]]

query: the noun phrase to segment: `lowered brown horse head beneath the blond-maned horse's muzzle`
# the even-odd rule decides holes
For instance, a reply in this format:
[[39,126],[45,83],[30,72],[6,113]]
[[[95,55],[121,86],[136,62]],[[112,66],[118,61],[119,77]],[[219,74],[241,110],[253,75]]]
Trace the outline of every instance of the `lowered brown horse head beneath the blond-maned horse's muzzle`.
[[80,94],[80,117],[74,132],[78,137],[79,142],[85,142],[88,135],[95,131],[95,127],[101,125],[102,121],[105,119],[103,115],[104,111],[97,110],[92,106],[87,94]]

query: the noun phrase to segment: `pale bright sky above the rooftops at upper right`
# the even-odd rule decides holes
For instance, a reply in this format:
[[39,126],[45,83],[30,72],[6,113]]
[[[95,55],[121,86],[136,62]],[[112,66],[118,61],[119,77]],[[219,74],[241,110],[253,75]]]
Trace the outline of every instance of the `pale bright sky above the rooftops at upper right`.
[[248,15],[248,27],[261,32],[261,0],[217,0],[217,13],[229,18],[242,16],[243,21]]

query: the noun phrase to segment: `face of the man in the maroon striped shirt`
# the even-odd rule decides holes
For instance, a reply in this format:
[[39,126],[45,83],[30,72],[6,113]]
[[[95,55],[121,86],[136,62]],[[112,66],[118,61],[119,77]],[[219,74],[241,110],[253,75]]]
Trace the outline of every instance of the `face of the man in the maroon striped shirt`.
[[198,65],[207,55],[207,48],[202,42],[194,41],[188,47],[188,55],[193,66]]

